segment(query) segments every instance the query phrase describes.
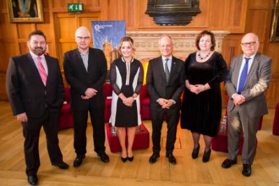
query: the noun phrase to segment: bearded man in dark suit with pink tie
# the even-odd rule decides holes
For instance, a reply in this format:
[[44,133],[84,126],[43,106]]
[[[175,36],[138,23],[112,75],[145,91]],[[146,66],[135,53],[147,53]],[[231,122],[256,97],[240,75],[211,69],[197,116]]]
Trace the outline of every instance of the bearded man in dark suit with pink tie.
[[42,31],[31,32],[27,45],[27,54],[10,57],[6,90],[13,114],[22,123],[27,180],[29,184],[36,185],[40,166],[38,139],[42,126],[51,164],[60,169],[69,168],[62,160],[57,138],[64,85],[58,60],[44,55],[45,34]]

